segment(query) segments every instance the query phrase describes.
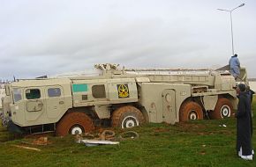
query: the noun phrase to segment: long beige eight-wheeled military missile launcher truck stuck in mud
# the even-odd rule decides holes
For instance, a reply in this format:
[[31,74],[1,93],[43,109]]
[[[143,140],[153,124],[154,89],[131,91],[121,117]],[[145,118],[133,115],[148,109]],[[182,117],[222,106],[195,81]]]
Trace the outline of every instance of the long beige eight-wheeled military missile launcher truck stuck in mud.
[[99,76],[19,80],[5,84],[2,120],[10,131],[81,134],[95,126],[230,117],[237,104],[230,73],[130,69],[98,64]]

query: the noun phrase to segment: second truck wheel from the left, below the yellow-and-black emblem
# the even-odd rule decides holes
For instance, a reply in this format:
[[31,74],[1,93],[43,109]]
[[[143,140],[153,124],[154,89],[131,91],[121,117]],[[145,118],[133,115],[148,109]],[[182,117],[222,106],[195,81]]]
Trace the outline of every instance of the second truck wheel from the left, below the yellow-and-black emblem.
[[125,105],[118,108],[112,114],[112,127],[137,127],[144,123],[143,114],[139,109],[131,105]]

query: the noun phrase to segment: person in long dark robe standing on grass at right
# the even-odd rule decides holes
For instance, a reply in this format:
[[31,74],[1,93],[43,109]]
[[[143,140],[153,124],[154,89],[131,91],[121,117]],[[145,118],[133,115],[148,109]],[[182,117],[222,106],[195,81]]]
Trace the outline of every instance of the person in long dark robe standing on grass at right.
[[252,114],[251,103],[248,94],[245,91],[245,84],[238,84],[237,98],[237,151],[238,156],[245,160],[252,160]]

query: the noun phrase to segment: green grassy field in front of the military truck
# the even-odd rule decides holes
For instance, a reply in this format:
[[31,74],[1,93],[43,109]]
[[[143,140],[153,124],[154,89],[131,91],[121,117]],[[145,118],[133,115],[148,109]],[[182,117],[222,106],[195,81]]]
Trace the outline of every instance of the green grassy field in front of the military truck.
[[[256,146],[255,98],[253,146]],[[226,127],[220,126],[223,124]],[[237,156],[234,118],[200,120],[175,126],[147,124],[132,130],[139,133],[139,139],[125,140],[114,146],[87,147],[74,142],[72,136],[49,136],[51,144],[35,146],[23,143],[33,139],[9,134],[0,127],[0,166],[256,166],[256,157],[249,162]]]

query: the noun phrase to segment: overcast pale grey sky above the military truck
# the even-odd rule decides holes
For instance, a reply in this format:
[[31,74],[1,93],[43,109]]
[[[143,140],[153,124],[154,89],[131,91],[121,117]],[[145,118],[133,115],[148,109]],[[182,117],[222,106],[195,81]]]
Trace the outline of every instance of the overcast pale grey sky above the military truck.
[[92,69],[214,68],[235,53],[256,77],[255,0],[0,0],[0,78]]

